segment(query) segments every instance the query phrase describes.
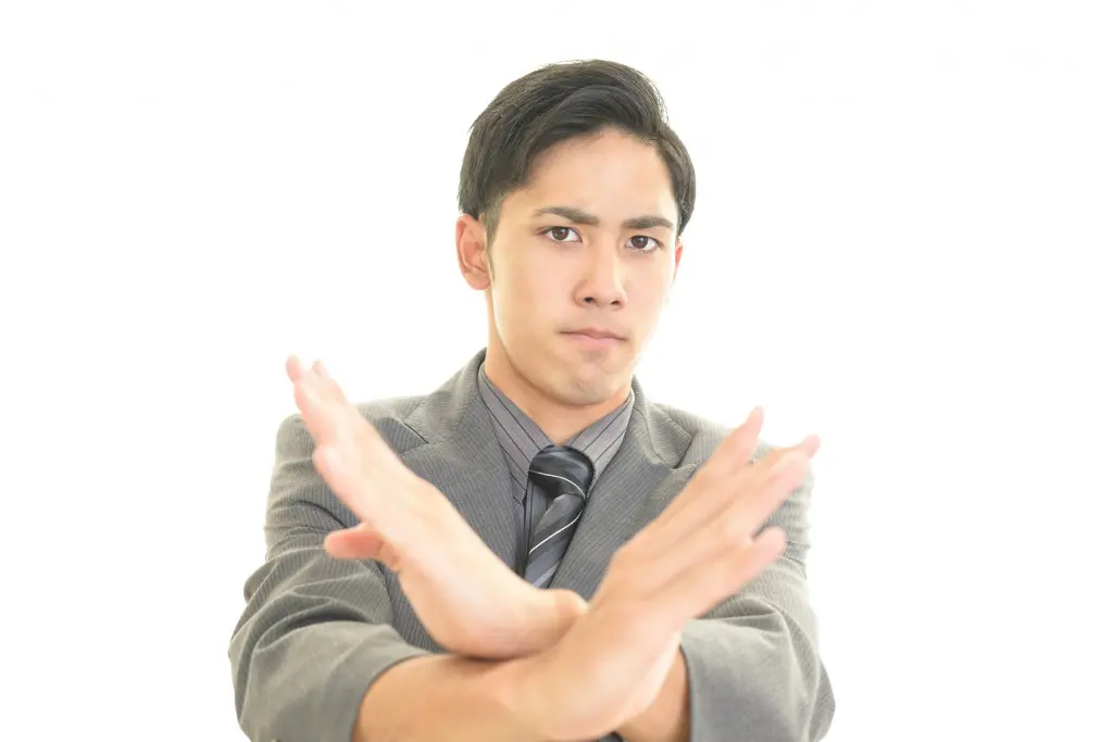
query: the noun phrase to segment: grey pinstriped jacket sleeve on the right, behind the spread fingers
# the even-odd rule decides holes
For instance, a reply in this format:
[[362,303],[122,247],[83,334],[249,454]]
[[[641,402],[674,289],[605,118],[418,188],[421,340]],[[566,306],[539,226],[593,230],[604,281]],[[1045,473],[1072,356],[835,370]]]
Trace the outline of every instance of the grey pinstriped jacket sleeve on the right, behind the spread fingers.
[[684,627],[692,742],[814,741],[830,726],[835,696],[805,570],[812,482],[809,466],[766,524],[786,533],[780,558]]

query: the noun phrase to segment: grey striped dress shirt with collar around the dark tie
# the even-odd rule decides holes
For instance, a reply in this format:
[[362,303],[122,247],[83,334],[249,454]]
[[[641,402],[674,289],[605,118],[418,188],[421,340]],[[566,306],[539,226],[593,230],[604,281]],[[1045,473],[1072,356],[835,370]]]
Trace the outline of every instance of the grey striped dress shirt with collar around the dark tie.
[[[518,405],[491,383],[485,366],[485,363],[480,366],[479,392],[491,413],[495,437],[499,439],[499,446],[502,448],[514,483],[512,506],[518,508],[518,523],[520,524],[515,568],[519,574],[522,574],[530,550],[530,534],[533,533],[549,506],[549,497],[529,479],[530,463],[539,451],[553,442],[538,427],[536,423],[530,419],[529,415],[523,413]],[[617,409],[577,433],[565,444],[587,455],[595,468],[591,486],[588,487],[589,497],[603,469],[614,458],[619,446],[622,445],[622,438],[626,436],[632,412],[633,390],[631,389],[626,402]]]

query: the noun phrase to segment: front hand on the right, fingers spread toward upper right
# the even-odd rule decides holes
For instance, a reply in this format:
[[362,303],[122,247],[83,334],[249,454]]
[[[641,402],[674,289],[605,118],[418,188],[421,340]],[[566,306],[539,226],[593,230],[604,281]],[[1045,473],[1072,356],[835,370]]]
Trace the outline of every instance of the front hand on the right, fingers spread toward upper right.
[[819,439],[750,463],[760,427],[755,409],[614,553],[587,614],[555,646],[503,665],[505,701],[539,736],[598,739],[644,711],[677,657],[684,623],[780,555],[782,531],[755,534],[799,486]]

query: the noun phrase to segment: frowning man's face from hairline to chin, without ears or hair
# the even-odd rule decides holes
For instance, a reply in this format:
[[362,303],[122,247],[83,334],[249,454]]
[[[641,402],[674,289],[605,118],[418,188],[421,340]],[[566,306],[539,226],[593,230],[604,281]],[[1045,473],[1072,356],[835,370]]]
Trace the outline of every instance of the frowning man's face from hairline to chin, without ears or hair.
[[486,296],[501,348],[489,353],[564,404],[624,397],[680,261],[678,221],[651,146],[608,130],[544,152],[500,209]]

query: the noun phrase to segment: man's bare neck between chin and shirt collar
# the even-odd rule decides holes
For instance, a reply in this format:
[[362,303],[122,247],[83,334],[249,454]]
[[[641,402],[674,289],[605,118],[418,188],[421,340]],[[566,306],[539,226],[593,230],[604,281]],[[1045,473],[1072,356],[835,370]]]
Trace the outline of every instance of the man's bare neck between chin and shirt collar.
[[617,409],[630,394],[628,384],[598,404],[570,405],[561,402],[519,374],[498,343],[487,344],[484,372],[491,383],[556,445],[565,445],[577,433]]

